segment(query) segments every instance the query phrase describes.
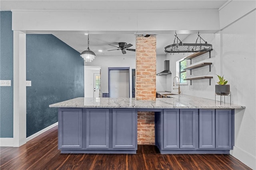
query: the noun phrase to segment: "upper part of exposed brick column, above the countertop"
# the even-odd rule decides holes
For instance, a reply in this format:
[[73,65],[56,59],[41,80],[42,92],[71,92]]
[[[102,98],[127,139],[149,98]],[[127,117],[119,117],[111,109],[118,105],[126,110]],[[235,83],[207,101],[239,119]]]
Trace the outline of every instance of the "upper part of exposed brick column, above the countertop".
[[156,35],[136,37],[136,100],[156,100]]

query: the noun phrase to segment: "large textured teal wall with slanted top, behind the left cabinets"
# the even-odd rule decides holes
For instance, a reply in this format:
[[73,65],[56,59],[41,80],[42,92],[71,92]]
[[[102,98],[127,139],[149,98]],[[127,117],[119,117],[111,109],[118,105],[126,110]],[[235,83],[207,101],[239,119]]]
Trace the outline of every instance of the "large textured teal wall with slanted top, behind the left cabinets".
[[56,123],[50,104],[84,97],[84,60],[54,35],[26,35],[27,137]]

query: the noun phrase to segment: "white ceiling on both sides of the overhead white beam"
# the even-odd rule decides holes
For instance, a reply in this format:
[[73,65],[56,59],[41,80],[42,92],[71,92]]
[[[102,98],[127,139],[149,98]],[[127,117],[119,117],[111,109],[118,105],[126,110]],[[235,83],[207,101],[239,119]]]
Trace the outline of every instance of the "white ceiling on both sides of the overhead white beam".
[[[173,9],[219,9],[228,0],[0,0],[1,10],[173,10]],[[32,31],[27,33],[51,33],[78,52],[87,49],[87,35],[82,31]],[[164,55],[164,47],[173,43],[175,31],[156,35],[157,55]],[[195,33],[195,32],[190,32]],[[200,32],[204,33],[204,32]],[[205,32],[206,33],[206,32]],[[183,41],[189,34],[178,34]],[[120,50],[108,44],[118,46],[119,42],[131,43],[135,49],[135,37],[132,32],[111,34],[90,34],[90,49],[97,55],[122,55]],[[190,43],[190,42],[187,42]],[[210,42],[209,42],[210,43]],[[117,49],[117,48],[116,48]],[[99,52],[98,50],[102,50]],[[127,51],[126,55],[135,55]]]

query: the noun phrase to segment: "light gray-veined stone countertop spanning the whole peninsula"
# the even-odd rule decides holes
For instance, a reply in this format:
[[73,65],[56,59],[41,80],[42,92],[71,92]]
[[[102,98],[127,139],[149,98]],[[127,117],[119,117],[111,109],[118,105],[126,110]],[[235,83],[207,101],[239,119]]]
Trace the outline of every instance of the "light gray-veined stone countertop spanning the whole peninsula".
[[173,98],[156,100],[135,100],[135,98],[74,98],[51,104],[49,107],[87,107],[87,108],[158,108],[158,109],[245,109],[245,106],[224,104],[215,100],[188,95],[173,95]]

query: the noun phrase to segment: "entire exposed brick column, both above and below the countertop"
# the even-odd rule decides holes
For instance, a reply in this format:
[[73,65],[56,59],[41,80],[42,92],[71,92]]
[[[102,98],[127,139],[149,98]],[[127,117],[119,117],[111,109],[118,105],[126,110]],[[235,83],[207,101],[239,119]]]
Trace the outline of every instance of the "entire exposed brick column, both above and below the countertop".
[[[156,100],[156,35],[136,37],[136,100]],[[155,143],[154,112],[138,112],[138,144]]]

